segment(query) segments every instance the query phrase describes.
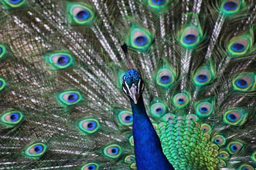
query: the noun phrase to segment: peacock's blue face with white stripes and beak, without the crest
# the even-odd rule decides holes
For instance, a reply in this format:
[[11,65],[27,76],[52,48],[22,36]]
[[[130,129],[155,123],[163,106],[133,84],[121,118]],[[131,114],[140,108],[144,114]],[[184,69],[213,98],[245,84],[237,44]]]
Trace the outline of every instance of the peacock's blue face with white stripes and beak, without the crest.
[[135,69],[129,69],[123,76],[122,89],[129,99],[132,99],[135,104],[144,90],[144,83],[140,73]]

